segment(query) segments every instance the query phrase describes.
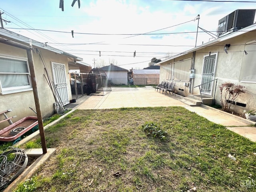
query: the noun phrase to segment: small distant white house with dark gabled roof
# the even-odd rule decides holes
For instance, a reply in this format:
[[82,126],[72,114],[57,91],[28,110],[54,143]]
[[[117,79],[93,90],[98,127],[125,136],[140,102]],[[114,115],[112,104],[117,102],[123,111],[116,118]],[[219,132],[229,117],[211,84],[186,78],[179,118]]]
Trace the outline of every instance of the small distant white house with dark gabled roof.
[[128,84],[127,69],[110,64],[108,66],[101,67],[100,70],[103,70],[106,73],[110,84],[116,84],[116,85]]

